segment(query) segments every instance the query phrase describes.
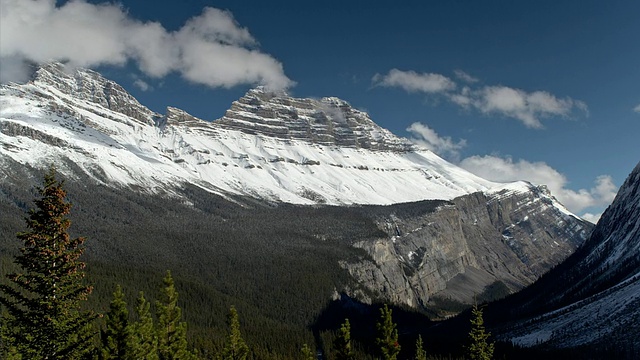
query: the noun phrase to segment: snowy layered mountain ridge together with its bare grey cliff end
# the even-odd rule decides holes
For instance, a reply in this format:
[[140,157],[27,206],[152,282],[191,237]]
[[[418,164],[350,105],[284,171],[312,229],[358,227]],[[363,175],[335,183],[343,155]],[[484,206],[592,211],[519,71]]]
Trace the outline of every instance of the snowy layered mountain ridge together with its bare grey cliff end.
[[369,293],[411,306],[469,302],[498,281],[519,289],[591,228],[544,188],[479,178],[337,98],[258,88],[208,122],[154,113],[100,74],[56,63],[0,86],[0,163],[52,162],[149,194],[188,184],[271,204],[392,205],[375,218],[388,236],[356,243],[368,258],[342,266]]

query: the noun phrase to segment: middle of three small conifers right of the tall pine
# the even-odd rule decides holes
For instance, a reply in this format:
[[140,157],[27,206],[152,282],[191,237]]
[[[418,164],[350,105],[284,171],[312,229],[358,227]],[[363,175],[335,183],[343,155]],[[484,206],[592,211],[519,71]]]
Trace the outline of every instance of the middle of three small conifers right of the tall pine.
[[129,337],[129,348],[134,359],[158,360],[158,337],[153,329],[150,305],[141,291],[135,309],[138,320],[131,324]]

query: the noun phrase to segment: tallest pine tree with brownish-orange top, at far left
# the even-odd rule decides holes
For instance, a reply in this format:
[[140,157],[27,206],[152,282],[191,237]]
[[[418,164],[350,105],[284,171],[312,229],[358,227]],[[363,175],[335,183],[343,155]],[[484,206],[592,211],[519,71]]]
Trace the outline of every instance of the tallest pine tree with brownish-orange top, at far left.
[[24,244],[15,257],[22,272],[7,275],[13,286],[0,285],[10,333],[3,346],[25,359],[77,359],[91,350],[96,317],[80,310],[92,290],[83,284],[85,264],[78,260],[85,238],[67,233],[71,204],[54,168],[38,193],[28,230],[17,235]]

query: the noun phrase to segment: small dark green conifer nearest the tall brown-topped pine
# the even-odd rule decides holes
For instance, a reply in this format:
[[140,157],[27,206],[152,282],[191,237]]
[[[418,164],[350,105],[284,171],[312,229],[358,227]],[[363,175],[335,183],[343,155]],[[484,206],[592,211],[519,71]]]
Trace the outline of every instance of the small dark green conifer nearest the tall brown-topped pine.
[[105,315],[105,326],[102,332],[102,359],[135,359],[129,348],[132,344],[129,310],[120,285],[116,286],[113,293],[109,312]]

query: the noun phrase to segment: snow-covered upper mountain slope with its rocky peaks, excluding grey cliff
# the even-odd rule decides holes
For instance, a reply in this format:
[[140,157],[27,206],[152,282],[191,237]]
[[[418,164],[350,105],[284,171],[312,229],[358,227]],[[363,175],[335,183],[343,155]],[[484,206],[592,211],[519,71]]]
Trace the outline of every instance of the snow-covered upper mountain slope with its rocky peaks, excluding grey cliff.
[[336,98],[254,89],[207,122],[154,113],[98,73],[54,63],[0,88],[0,121],[2,157],[40,167],[68,158],[104,183],[150,191],[189,182],[290,203],[391,204],[498,186]]

